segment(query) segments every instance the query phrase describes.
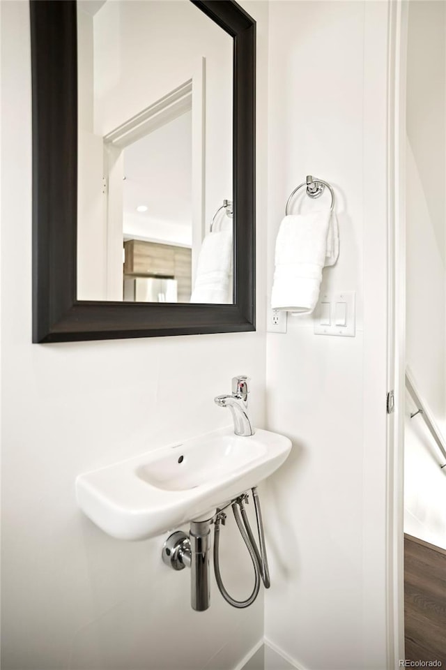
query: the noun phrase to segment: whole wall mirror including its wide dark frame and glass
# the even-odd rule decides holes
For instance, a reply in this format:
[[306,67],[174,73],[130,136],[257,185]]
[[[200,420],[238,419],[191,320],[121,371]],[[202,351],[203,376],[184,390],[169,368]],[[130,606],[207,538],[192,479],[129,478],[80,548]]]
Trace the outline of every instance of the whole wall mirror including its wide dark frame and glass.
[[[148,0],[150,1],[153,0]],[[86,162],[85,151],[82,149],[82,141],[86,136],[86,95],[82,86],[79,87],[79,76],[82,75],[83,67],[81,49],[84,48],[82,45],[86,40],[80,32],[82,26],[79,23],[79,7],[82,8],[84,4],[89,13],[92,13],[92,8],[93,13],[98,11],[93,22],[91,17],[87,19],[90,21],[89,25],[95,25],[98,30],[102,30],[102,38],[98,38],[98,43],[102,40],[102,43],[109,45],[118,42],[109,39],[107,35],[105,38],[103,31],[110,30],[110,26],[116,31],[116,17],[111,13],[116,13],[120,3],[81,1],[78,6],[75,0],[30,2],[33,88],[33,342],[209,334],[255,329],[256,25],[252,17],[232,0],[181,1],[185,3],[186,12],[190,13],[192,10],[192,13],[197,14],[192,18],[197,20],[199,30],[203,31],[203,21],[206,21],[211,30],[218,29],[225,40],[230,40],[229,49],[224,43],[221,48],[215,48],[218,54],[226,50],[231,55],[231,94],[225,92],[223,70],[220,73],[212,59],[209,59],[206,70],[201,65],[196,68],[199,71],[197,77],[191,75],[185,80],[184,75],[183,79],[180,77],[178,86],[172,84],[173,79],[169,80],[165,94],[162,94],[162,87],[152,86],[148,84],[149,80],[144,79],[139,87],[140,93],[142,91],[139,107],[132,107],[128,89],[125,89],[125,94],[119,93],[118,98],[107,98],[110,89],[110,86],[107,89],[109,73],[113,73],[116,79],[116,73],[120,72],[120,64],[116,66],[114,63],[113,68],[111,66],[107,72],[102,72],[100,84],[95,83],[94,90],[100,91],[97,96],[99,103],[91,115],[94,117],[95,126],[100,128],[95,131],[100,135],[100,156],[108,158],[96,161],[91,158],[93,154],[89,154]],[[179,37],[175,37],[173,17],[176,13],[173,3],[158,1],[154,4],[164,14],[167,13],[166,35],[169,39],[174,39],[177,55],[181,58]],[[123,6],[125,11],[132,11],[136,6],[143,7],[144,3],[130,1],[123,3]],[[123,20],[127,20],[125,16]],[[177,16],[177,27],[181,29],[178,21]],[[136,24],[144,27],[142,20],[138,19]],[[122,31],[123,29],[118,29],[119,35]],[[178,36],[185,32],[187,31],[179,31]],[[194,35],[190,35],[190,39],[194,40]],[[220,36],[214,33],[205,39],[214,44],[218,43]],[[132,45],[137,43],[132,34],[129,40]],[[152,44],[153,39],[146,36],[146,43]],[[119,54],[119,49],[117,52]],[[112,53],[112,57],[115,55]],[[203,62],[206,54],[204,56]],[[100,66],[97,64],[100,65],[101,58],[108,63],[110,54],[105,59],[103,56],[98,57],[95,52],[95,68],[99,68],[99,71]],[[151,60],[156,59],[152,57]],[[157,73],[164,71],[166,60],[164,56],[155,63]],[[226,72],[227,89],[227,64],[223,68]],[[147,70],[145,66],[144,72]],[[218,77],[221,77],[221,82]],[[165,78],[169,79],[167,75]],[[127,83],[129,77],[126,75],[123,80]],[[227,128],[225,131],[221,121],[217,124],[213,120],[203,102],[205,89],[207,100],[216,95],[215,91],[220,91],[220,100],[229,105],[224,117],[221,117],[231,121],[227,140],[224,135],[224,132],[228,133]],[[151,97],[148,94],[152,92]],[[116,112],[117,103],[114,100],[123,101],[123,107],[127,105],[125,121],[123,117],[118,118],[115,114],[115,119],[110,120],[107,117],[107,123],[102,123],[110,110]],[[217,105],[222,107],[220,101]],[[203,126],[200,126],[200,114]],[[215,138],[209,140],[204,131],[201,132],[201,128],[212,128],[213,124],[220,133],[217,139],[221,140],[221,146]],[[157,134],[153,132],[153,128],[157,130]],[[159,129],[161,133],[158,132]],[[171,139],[166,139],[167,133],[171,133]],[[192,151],[188,139],[191,135]],[[185,139],[179,139],[180,137]],[[200,137],[203,138],[203,144],[200,144]],[[206,142],[215,145],[213,159],[208,157]],[[153,147],[157,144],[162,146],[160,155],[167,168],[169,163],[178,166],[183,161],[185,164],[183,177],[176,174],[178,170],[173,175],[167,172],[168,183],[174,184],[174,188],[170,191],[169,188],[164,189],[164,201],[160,202],[157,202],[156,195],[162,193],[163,186],[155,183],[154,179],[159,177],[164,168],[161,169],[157,163],[149,165],[145,160],[146,156],[155,153]],[[169,151],[165,150],[166,147]],[[171,149],[175,149],[177,153]],[[191,153],[192,168],[189,169],[185,156],[190,156]],[[166,156],[170,156],[169,160]],[[199,164],[197,156],[202,159],[202,163]],[[93,173],[89,177],[89,170],[95,161],[100,163],[102,171],[102,195],[107,194],[108,198],[102,201],[105,205],[101,204],[106,212],[103,224],[106,232],[103,239],[107,240],[107,244],[103,245],[106,249],[102,254],[103,258],[94,251],[93,260],[88,260],[91,239],[98,237],[93,226],[98,221],[102,222],[97,208],[92,216],[91,211],[84,207],[85,202],[88,202],[85,193],[93,186],[96,188]],[[208,172],[204,172],[210,169],[209,165],[212,163],[217,167],[210,178]],[[107,165],[112,165],[112,168],[107,168]],[[118,170],[116,165],[119,166]],[[226,172],[223,171],[224,165]],[[217,168],[221,168],[220,173]],[[139,170],[145,170],[144,178]],[[147,174],[150,179],[146,177]],[[187,198],[182,196],[176,203],[169,195],[183,193],[184,184],[189,184],[190,174],[191,200],[196,203],[192,207],[195,211],[192,216],[184,214],[188,208],[191,209]],[[202,174],[203,178],[195,179],[194,182],[194,174]],[[138,184],[143,182],[146,191],[138,191]],[[147,184],[152,187],[148,191]],[[208,187],[207,190],[205,186]],[[93,195],[95,193],[93,191]],[[146,194],[144,197],[147,198],[147,204],[138,204],[142,198],[141,193]],[[227,200],[226,196],[229,196]],[[97,201],[99,202],[99,196]],[[113,209],[116,202],[121,203],[121,209]],[[146,216],[147,210],[151,216]],[[116,223],[113,224],[113,221],[118,221],[119,234],[115,237],[110,233],[113,225],[116,230]],[[220,237],[210,233],[211,221],[213,227],[217,225]],[[186,223],[190,223],[190,229]],[[85,240],[89,245],[85,245]],[[206,265],[206,262],[201,262],[206,244],[208,247],[213,246],[210,254],[214,255],[214,259],[218,257],[220,264],[222,254],[231,259],[231,274],[227,275],[231,278],[229,297],[225,297],[226,294],[222,291],[200,290],[198,277],[200,267]],[[88,262],[81,255],[85,249]],[[209,254],[209,249],[206,253]],[[144,265],[145,261],[138,265],[135,260],[149,256],[152,258],[154,254],[157,255],[155,265],[150,267]],[[168,267],[166,264],[169,263]],[[91,289],[93,283],[89,285],[85,281],[85,277],[89,277],[85,274],[85,267],[93,268],[90,275],[94,274],[96,279],[100,278],[100,268],[105,268],[103,284],[107,286],[103,292],[94,292],[96,289]],[[110,272],[110,267],[117,268],[115,274]],[[226,280],[227,276],[225,275]],[[96,281],[96,285],[100,285],[100,281]]]

